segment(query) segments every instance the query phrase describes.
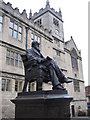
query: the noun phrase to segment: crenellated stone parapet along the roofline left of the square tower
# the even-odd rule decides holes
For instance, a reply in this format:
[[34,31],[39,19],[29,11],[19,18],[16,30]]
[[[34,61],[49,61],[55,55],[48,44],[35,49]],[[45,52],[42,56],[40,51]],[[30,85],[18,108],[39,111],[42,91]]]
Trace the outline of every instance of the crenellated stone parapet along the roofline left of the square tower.
[[2,1],[0,8],[5,12],[5,14],[9,14],[14,18],[20,20],[21,22],[25,23],[27,27],[32,27],[36,30],[39,30],[41,33],[45,34],[46,36],[49,37],[51,36],[51,31],[46,30],[46,28],[44,28],[44,26],[42,25],[34,23],[32,17],[28,18],[25,9],[22,11],[22,13],[20,13],[19,8],[17,7],[13,8],[11,3],[9,2],[5,3],[4,1]]

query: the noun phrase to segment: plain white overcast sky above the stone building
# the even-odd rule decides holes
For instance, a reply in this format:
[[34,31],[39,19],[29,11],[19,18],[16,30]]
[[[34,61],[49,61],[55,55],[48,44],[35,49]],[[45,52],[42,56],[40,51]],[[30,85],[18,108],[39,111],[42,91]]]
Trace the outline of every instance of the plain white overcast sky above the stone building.
[[[26,9],[29,14],[45,8],[46,0],[3,0],[10,2],[13,8],[18,7],[22,13]],[[83,75],[85,85],[88,85],[88,0],[49,0],[50,7],[59,11],[61,8],[64,21],[64,38],[70,40],[70,36],[81,50]]]

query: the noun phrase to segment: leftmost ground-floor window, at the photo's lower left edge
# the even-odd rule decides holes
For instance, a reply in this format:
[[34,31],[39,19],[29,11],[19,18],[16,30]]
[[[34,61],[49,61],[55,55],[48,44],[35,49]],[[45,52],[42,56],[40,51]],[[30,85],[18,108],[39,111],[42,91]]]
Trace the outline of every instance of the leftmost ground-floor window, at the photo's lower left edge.
[[2,79],[2,91],[10,91],[11,81],[8,79]]

